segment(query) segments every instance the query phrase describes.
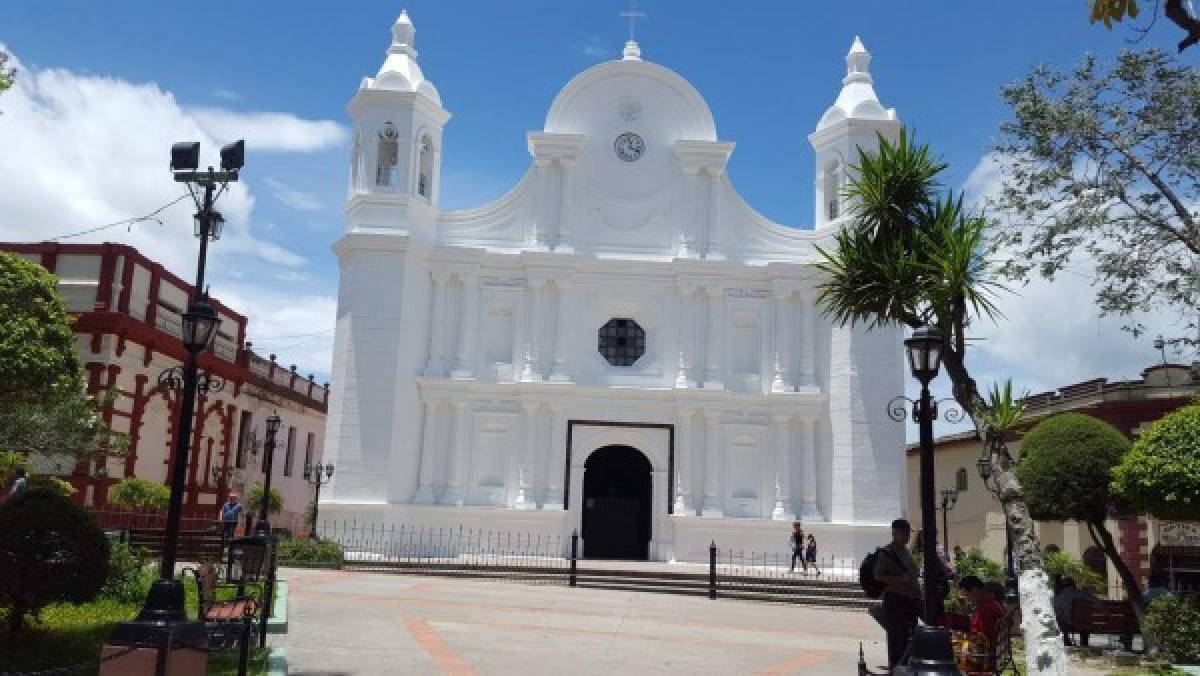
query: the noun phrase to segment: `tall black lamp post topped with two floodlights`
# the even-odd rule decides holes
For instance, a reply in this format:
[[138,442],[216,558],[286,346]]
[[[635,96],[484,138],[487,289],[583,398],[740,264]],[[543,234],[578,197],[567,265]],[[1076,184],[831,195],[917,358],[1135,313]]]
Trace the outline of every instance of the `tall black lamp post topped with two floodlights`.
[[[184,606],[184,585],[175,580],[175,562],[179,552],[179,524],[184,513],[184,493],[187,484],[188,439],[192,436],[192,418],[196,408],[196,393],[199,389],[220,389],[223,382],[209,373],[200,375],[199,355],[212,347],[221,319],[216,310],[208,303],[204,288],[204,270],[208,262],[209,240],[221,238],[224,219],[212,208],[216,201],[214,191],[223,191],[229,183],[238,180],[245,158],[245,144],[241,140],[221,149],[221,171],[209,167],[197,171],[199,166],[200,144],[197,142],[176,143],[170,149],[170,169],[176,183],[187,185],[196,202],[196,237],[200,240],[196,261],[196,286],[187,311],[182,316],[180,341],[184,346],[184,366],[168,369],[160,376],[160,383],[181,390],[179,407],[179,425],[175,431],[175,445],[170,462],[170,499],[167,503],[167,532],[162,548],[162,562],[158,568],[158,580],[150,587],[145,605],[132,622],[118,624],[109,641],[114,644],[154,645],[157,646],[155,674],[164,675],[168,663],[174,663],[172,652],[179,645],[206,647],[208,639],[203,622],[188,622]],[[203,196],[196,187],[203,189]],[[104,663],[101,674],[121,674],[127,669],[120,660]],[[174,669],[173,669],[174,671]]]

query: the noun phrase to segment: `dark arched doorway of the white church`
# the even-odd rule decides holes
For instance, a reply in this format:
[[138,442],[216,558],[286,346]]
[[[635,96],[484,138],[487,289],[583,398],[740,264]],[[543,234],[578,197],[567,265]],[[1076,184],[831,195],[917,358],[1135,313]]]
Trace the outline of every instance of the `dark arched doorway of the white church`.
[[646,561],[650,542],[650,461],[636,448],[606,445],[583,463],[587,558]]

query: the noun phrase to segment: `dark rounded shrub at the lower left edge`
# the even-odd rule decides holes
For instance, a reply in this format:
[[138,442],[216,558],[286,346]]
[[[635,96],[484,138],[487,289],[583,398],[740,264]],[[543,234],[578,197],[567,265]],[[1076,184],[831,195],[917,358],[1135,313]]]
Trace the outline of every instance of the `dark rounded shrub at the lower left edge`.
[[0,606],[10,633],[53,602],[96,598],[108,573],[108,540],[82,507],[42,485],[0,507]]

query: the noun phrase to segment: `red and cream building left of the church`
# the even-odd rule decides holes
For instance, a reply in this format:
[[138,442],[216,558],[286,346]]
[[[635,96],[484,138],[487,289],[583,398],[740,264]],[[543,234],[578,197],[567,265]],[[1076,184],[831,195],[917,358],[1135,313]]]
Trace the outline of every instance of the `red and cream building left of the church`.
[[[35,459],[35,468],[64,474],[80,502],[103,509],[109,486],[124,477],[166,484],[179,420],[179,393],[160,375],[180,366],[181,313],[192,287],[161,264],[120,244],[4,244],[0,250],[40,263],[59,279],[74,331],[88,391],[115,393],[104,421],[128,435],[130,449],[107,461],[61,467]],[[324,448],[329,384],[264,359],[246,340],[246,317],[210,299],[221,325],[200,369],[224,381],[221,391],[197,396],[188,459],[185,514],[211,518],[228,491],[244,493],[262,480],[259,451],[264,420],[272,411],[283,419],[276,439],[272,486],[284,498],[284,525],[299,526],[312,499],[302,478],[305,462],[318,462]],[[257,442],[257,443],[256,443]],[[301,445],[302,444],[302,445]],[[302,453],[302,455],[300,455]],[[38,467],[38,463],[43,467]]]

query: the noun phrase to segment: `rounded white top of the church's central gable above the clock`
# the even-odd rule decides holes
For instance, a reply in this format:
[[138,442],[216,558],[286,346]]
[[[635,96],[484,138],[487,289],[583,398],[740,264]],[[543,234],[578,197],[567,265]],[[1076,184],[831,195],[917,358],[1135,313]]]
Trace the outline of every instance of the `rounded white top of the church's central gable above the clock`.
[[708,103],[674,71],[643,61],[637,43],[624,58],[598,64],[575,76],[546,114],[546,132],[607,136],[637,126],[658,140],[716,140]]

